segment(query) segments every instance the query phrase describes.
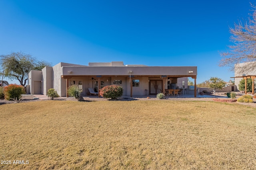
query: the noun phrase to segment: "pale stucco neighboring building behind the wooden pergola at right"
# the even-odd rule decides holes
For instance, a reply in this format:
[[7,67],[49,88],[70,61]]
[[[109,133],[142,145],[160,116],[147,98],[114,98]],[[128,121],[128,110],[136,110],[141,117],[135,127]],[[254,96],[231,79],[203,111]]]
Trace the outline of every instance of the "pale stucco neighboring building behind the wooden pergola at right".
[[256,62],[239,63],[235,65],[235,85],[238,88],[243,76],[256,76]]

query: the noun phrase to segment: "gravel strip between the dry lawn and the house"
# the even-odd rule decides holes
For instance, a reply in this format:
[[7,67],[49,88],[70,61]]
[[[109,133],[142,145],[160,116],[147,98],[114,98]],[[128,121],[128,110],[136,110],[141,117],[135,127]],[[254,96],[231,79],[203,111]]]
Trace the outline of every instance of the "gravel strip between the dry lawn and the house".
[[[219,93],[218,96],[225,96],[225,94]],[[239,97],[239,96],[238,96]],[[29,96],[22,96],[22,101],[20,102],[35,102],[35,101],[42,101],[40,99],[34,99],[35,96],[29,95]],[[69,100],[69,101],[77,101],[75,98],[65,98],[65,97],[60,97],[60,98],[55,98],[54,100]],[[134,100],[160,100],[157,98],[118,98],[116,100],[110,100],[106,98],[98,98],[98,97],[84,97],[84,102],[90,102],[90,101],[134,101]],[[171,100],[171,101],[210,101],[212,102],[212,98],[166,98],[164,100]],[[254,103],[239,103],[239,102],[230,102],[230,104],[242,104],[242,105],[247,105],[247,106],[252,106],[256,107],[256,99],[253,98]],[[8,100],[0,100],[0,105],[1,104],[11,104],[11,103],[17,103],[16,101],[8,101]]]

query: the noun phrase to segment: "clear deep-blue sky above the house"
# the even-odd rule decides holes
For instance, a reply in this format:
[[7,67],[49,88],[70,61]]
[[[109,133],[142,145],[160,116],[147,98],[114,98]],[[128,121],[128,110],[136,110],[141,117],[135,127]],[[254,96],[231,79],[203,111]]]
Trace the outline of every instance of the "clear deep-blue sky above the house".
[[52,65],[124,61],[198,66],[197,83],[234,76],[219,67],[229,27],[253,0],[0,0],[0,54]]

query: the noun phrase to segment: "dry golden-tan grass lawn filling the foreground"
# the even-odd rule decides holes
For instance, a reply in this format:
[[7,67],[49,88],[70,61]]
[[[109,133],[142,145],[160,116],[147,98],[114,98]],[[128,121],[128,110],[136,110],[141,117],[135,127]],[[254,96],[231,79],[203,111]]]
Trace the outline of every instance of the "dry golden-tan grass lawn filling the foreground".
[[252,107],[42,101],[0,110],[0,170],[256,169]]

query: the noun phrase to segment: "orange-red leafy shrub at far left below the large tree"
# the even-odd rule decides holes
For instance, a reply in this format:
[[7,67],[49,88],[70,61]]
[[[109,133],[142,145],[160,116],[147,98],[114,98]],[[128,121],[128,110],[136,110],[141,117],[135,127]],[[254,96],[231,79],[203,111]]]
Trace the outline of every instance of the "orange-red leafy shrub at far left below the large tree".
[[21,94],[25,91],[24,87],[17,84],[10,84],[4,87],[4,98],[6,100],[20,100]]

